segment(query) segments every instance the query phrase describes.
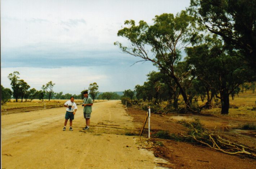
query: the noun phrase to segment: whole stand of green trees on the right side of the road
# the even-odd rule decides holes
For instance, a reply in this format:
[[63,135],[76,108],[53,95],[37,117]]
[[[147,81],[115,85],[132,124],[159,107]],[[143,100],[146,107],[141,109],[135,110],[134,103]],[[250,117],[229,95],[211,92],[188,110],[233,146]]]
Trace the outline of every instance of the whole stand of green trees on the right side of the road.
[[[114,44],[159,69],[147,75],[144,85],[135,86],[136,97],[154,104],[168,100],[178,108],[181,96],[186,112],[195,112],[193,100],[206,99],[210,108],[218,98],[221,114],[228,114],[229,96],[234,98],[240,86],[246,91],[247,82],[256,79],[255,3],[191,0],[186,11],[156,15],[151,25],[126,20],[118,36],[127,38],[130,45]],[[183,59],[182,50],[186,52]]]

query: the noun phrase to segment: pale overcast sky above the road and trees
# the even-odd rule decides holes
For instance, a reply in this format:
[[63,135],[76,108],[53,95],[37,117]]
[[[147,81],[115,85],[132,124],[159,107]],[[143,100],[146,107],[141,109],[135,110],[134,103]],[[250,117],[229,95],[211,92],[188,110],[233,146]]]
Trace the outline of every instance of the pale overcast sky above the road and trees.
[[[155,15],[176,15],[190,0],[0,0],[1,85],[14,71],[30,88],[49,81],[54,92],[79,94],[96,82],[98,91],[134,90],[151,62],[122,53],[114,42],[125,20],[153,24]],[[134,64],[134,65],[133,65]],[[133,65],[133,66],[131,66]]]

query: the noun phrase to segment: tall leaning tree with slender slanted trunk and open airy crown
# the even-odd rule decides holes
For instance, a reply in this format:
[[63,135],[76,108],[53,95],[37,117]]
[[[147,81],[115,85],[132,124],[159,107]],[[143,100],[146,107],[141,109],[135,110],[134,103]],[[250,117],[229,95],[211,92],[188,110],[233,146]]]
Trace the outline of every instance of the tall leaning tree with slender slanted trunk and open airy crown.
[[173,14],[156,15],[154,24],[149,26],[141,20],[135,25],[134,20],[126,20],[126,27],[118,31],[118,36],[128,39],[129,45],[123,46],[120,42],[114,44],[124,52],[141,61],[151,61],[159,70],[172,78],[177,84],[185,101],[186,108],[190,103],[181,85],[182,79],[176,76],[175,65],[181,60],[181,50],[190,42],[193,34],[194,19],[186,11],[181,11],[174,17]]

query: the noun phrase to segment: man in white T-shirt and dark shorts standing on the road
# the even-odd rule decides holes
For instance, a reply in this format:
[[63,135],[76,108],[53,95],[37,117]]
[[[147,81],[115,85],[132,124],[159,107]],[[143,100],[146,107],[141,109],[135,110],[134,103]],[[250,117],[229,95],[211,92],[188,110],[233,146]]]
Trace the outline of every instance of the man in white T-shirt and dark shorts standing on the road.
[[63,131],[66,130],[66,125],[67,125],[68,120],[70,122],[69,130],[73,131],[72,120],[74,120],[74,115],[76,114],[76,110],[77,110],[77,106],[76,106],[76,103],[74,102],[74,100],[75,100],[75,98],[73,96],[71,96],[70,100],[64,104],[64,107],[67,107],[67,109],[66,109],[65,123],[64,123]]

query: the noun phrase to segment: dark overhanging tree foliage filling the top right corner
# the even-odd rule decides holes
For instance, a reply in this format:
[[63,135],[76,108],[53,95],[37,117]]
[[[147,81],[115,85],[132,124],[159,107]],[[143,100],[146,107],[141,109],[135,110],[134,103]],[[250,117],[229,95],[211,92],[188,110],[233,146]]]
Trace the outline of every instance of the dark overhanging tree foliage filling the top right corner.
[[256,0],[191,0],[189,10],[256,70]]

